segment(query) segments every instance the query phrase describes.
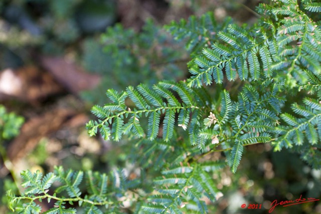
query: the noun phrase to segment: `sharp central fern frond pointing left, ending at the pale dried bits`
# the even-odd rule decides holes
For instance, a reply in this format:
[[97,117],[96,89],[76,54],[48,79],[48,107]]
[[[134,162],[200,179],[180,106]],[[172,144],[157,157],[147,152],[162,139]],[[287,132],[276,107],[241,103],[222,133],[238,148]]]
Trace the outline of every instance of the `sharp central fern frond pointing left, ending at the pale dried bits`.
[[[182,103],[174,96],[174,92],[178,94]],[[200,117],[201,112],[195,110],[206,108],[204,101],[194,99],[197,93],[199,92],[190,89],[184,82],[174,83],[171,81],[160,82],[154,85],[153,89],[149,89],[142,84],[137,87],[137,90],[130,86],[126,93],[121,94],[111,90],[108,92],[109,97],[119,103],[118,106],[115,103],[106,104],[104,107],[95,106],[92,111],[103,120],[88,122],[88,132],[92,136],[99,130],[105,139],[112,136],[115,141],[120,140],[122,134],[132,133],[134,136],[143,137],[144,130],[141,122],[144,117],[147,117],[147,137],[153,140],[158,135],[161,116],[165,114],[162,135],[165,141],[169,141],[175,131],[176,121],[184,130],[189,125],[197,124],[198,121],[192,120],[190,114]],[[130,109],[132,106],[126,107],[124,104],[124,98],[127,95],[136,107],[133,110]],[[164,102],[161,97],[166,101]],[[203,95],[200,95],[200,98],[202,97]],[[206,99],[208,98],[203,98],[203,100]],[[207,105],[210,105],[210,103],[208,102]],[[177,114],[178,120],[176,119]],[[111,129],[109,125],[111,125]]]

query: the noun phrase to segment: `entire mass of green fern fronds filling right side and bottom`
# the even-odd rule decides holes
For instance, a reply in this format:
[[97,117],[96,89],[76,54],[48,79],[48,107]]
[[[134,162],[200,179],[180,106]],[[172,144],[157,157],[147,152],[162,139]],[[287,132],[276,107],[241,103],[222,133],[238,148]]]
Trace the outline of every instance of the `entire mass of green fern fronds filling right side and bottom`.
[[[34,200],[47,198],[56,199],[57,207],[45,213],[75,213],[64,203],[76,201],[86,213],[112,213],[121,207],[119,198],[127,197],[135,213],[206,213],[204,196],[215,201],[221,194],[213,173],[225,165],[235,173],[244,146],[255,143],[298,152],[320,168],[321,4],[283,0],[261,4],[258,13],[261,18],[250,27],[231,20],[219,25],[211,13],[172,23],[166,28],[187,43],[192,76],[120,93],[110,89],[111,103],[92,108],[98,119],[87,123],[90,136],[99,131],[105,140],[140,138],[128,142],[139,148],[130,158],[141,167],[140,179],[112,172],[107,181],[107,175],[87,172],[88,193],[81,193],[82,172],[57,168],[41,178],[25,171],[27,191],[20,197],[9,193],[11,207],[39,213]],[[298,96],[299,103],[288,103]],[[226,160],[203,158],[214,152],[224,152]],[[153,170],[161,173],[151,183],[143,174]],[[54,180],[60,187],[50,194],[46,189]],[[68,197],[56,196],[62,190]]]

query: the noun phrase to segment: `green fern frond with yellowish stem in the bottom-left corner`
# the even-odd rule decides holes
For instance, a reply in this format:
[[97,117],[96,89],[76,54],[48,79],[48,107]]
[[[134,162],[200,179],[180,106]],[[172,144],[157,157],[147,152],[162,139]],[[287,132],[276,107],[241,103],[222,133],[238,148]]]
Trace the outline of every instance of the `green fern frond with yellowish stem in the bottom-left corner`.
[[[115,206],[119,206],[121,201],[118,197],[124,194],[128,188],[135,188],[133,182],[125,182],[122,172],[114,170],[109,176],[105,173],[65,171],[62,167],[56,167],[54,172],[43,176],[37,171],[23,171],[21,173],[23,186],[26,188],[21,197],[9,191],[7,196],[10,199],[10,208],[17,213],[40,213],[41,207],[35,203],[38,199],[50,202],[56,200],[55,207],[43,213],[76,213],[75,208],[67,208],[66,204],[71,205],[77,202],[80,207],[84,207],[85,213],[114,213]],[[54,193],[49,193],[48,189],[54,182],[59,183]],[[134,185],[132,185],[134,184]],[[80,186],[87,189],[82,196]],[[82,187],[83,188],[83,187]],[[23,203],[24,202],[24,203]]]

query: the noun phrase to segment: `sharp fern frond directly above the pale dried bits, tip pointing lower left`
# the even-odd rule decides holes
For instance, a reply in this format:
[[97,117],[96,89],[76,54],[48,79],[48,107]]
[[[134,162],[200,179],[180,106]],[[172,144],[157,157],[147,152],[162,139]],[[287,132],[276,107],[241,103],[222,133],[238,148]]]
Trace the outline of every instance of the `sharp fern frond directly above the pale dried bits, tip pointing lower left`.
[[[229,25],[227,32],[219,33],[219,38],[225,45],[214,43],[212,49],[203,50],[204,57],[198,56],[190,64],[190,72],[194,76],[188,80],[188,85],[199,87],[200,81],[207,85],[211,84],[212,79],[208,78],[209,74],[216,83],[222,83],[223,71],[228,80],[235,80],[236,74],[241,80],[248,80],[248,73],[253,80],[258,80],[261,74],[270,77],[271,64],[274,60],[269,52],[270,47],[267,42],[269,38],[263,33],[254,33],[261,30],[246,31],[235,25]],[[253,35],[257,35],[256,40],[253,39]],[[195,66],[199,69],[195,69]]]

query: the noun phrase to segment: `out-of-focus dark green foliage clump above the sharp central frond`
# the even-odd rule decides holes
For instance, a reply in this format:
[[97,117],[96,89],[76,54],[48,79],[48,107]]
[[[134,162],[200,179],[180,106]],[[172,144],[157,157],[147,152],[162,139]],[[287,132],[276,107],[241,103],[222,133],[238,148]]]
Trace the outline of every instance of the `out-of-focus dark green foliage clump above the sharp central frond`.
[[[104,103],[101,95],[113,88],[125,90],[128,85],[144,83],[151,86],[159,80],[177,80],[190,60],[183,47],[151,20],[139,33],[124,29],[120,24],[109,27],[101,37],[101,44],[86,41],[84,65],[88,70],[103,75],[101,85],[85,97]],[[89,95],[89,96],[88,96]]]

